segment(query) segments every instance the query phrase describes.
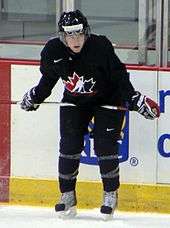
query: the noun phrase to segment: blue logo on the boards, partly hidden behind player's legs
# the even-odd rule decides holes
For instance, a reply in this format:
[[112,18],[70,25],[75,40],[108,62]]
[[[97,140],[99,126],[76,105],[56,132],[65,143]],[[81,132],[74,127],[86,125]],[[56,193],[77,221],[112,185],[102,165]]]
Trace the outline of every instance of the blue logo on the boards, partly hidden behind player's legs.
[[[89,131],[93,129],[93,123],[89,124]],[[122,139],[119,140],[119,161],[124,162],[129,157],[129,112],[126,112],[125,121],[121,132]],[[84,137],[84,151],[81,154],[80,162],[88,165],[98,165],[97,157],[94,152],[94,141],[90,133]]]

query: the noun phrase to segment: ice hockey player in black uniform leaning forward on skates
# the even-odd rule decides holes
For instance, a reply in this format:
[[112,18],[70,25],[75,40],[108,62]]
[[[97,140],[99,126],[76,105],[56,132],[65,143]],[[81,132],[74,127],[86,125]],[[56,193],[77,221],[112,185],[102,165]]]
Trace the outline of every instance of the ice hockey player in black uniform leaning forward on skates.
[[43,48],[40,62],[42,77],[24,95],[21,108],[36,110],[38,104],[50,96],[59,78],[65,86],[62,103],[75,105],[60,107],[58,178],[61,199],[55,206],[60,215],[76,214],[80,154],[89,121],[94,117],[94,150],[103,184],[100,212],[111,217],[117,205],[120,185],[118,141],[125,111],[101,106],[127,107],[151,120],[159,117],[159,106],[135,91],[112,43],[105,36],[92,34],[86,17],[79,10],[62,13],[58,34]]

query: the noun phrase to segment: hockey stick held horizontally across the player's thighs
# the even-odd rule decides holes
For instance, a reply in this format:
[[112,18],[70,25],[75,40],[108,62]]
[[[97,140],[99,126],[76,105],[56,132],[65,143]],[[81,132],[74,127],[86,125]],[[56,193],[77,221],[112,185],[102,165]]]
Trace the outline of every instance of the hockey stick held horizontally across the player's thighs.
[[[7,101],[7,100],[0,100],[0,105],[2,104],[15,104],[15,105],[20,105],[21,101]],[[63,102],[57,102],[57,101],[44,101],[41,104],[37,104],[37,105],[44,105],[44,104],[50,104],[50,105],[59,105],[59,106],[76,106],[74,104],[71,103],[63,103]],[[118,111],[128,111],[127,108],[122,107],[122,106],[112,106],[112,105],[101,105],[102,108],[106,108],[106,109],[111,109],[111,110],[118,110]]]

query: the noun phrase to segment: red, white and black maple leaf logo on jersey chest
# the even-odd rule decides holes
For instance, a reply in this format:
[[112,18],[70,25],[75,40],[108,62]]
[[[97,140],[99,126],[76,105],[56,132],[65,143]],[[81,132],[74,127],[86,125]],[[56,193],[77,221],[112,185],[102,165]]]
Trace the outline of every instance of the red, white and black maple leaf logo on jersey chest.
[[96,82],[93,81],[93,78],[89,80],[84,80],[84,77],[79,77],[75,72],[73,77],[68,77],[69,81],[63,80],[65,88],[71,93],[93,93],[93,87]]

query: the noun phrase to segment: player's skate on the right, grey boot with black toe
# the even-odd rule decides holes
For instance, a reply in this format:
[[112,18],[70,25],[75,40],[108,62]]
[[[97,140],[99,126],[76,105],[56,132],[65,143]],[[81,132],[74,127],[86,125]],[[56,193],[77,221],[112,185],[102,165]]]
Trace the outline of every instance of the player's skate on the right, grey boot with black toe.
[[103,215],[104,220],[110,220],[113,217],[114,210],[117,206],[117,191],[103,193],[103,205],[100,208],[100,212]]

